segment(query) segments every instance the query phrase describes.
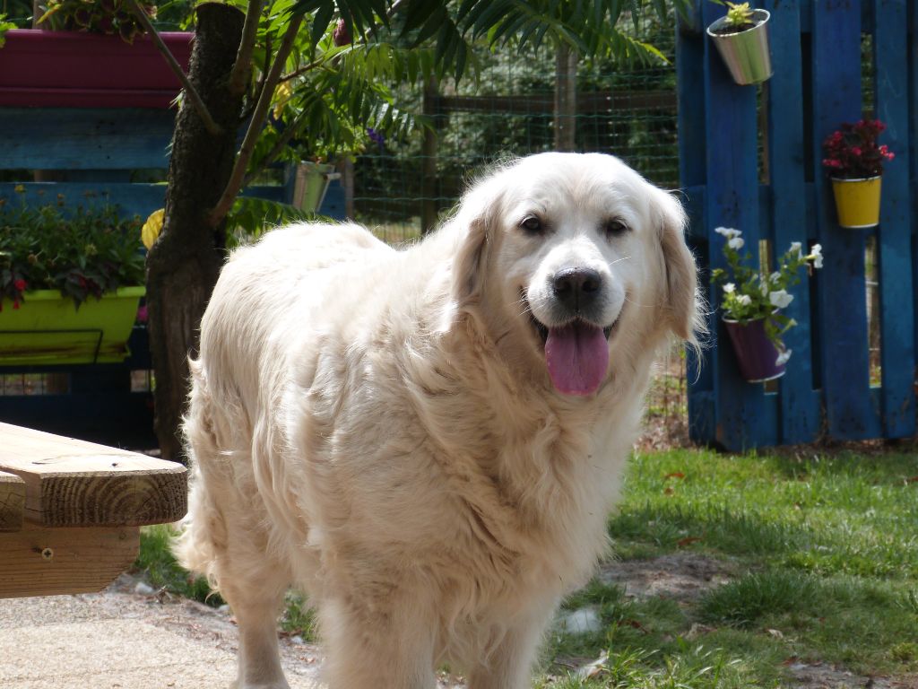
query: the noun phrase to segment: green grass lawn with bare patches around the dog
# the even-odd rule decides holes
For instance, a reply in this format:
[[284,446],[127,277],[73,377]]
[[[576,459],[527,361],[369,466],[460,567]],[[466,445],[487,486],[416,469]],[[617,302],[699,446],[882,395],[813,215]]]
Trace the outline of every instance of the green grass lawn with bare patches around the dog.
[[[845,672],[852,686],[918,686],[912,452],[639,454],[609,532],[619,561],[562,612],[587,608],[599,628],[553,630],[540,689],[842,686]],[[138,566],[203,599],[164,539],[145,530]],[[629,572],[642,568],[651,575],[636,586]],[[669,579],[698,585],[656,586]],[[291,595],[282,626],[311,634],[301,598]],[[830,674],[800,679],[812,669]]]

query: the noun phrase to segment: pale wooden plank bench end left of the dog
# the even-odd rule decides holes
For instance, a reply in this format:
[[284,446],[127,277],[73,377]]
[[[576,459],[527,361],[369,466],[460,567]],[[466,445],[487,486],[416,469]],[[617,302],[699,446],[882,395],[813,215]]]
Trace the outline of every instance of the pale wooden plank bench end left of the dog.
[[181,464],[0,424],[0,598],[101,591],[186,510]]

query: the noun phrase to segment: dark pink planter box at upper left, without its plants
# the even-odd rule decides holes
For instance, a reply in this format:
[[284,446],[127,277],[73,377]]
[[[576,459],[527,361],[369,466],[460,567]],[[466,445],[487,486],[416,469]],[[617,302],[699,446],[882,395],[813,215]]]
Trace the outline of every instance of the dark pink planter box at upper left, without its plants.
[[[194,34],[162,40],[185,69]],[[181,90],[148,36],[14,28],[0,48],[0,107],[169,107]]]

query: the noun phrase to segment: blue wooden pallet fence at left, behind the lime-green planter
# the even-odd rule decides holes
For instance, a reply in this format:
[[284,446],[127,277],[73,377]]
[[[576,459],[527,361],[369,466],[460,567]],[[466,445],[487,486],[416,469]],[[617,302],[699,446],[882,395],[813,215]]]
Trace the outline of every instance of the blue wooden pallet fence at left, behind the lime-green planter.
[[[6,203],[53,204],[63,194],[67,207],[107,199],[123,216],[146,218],[162,208],[164,184],[132,182],[134,171],[164,170],[169,164],[174,112],[143,108],[0,107],[0,169],[65,171],[66,181],[0,183]],[[17,186],[23,187],[17,191]],[[246,190],[289,202],[291,189],[260,186]],[[84,195],[90,195],[85,198]],[[343,190],[330,188],[319,212],[343,218]],[[131,392],[130,371],[151,368],[146,328],[136,326],[123,364],[70,367],[5,367],[0,374],[65,373],[66,393],[0,395],[0,421],[109,445],[154,447],[152,396]]]

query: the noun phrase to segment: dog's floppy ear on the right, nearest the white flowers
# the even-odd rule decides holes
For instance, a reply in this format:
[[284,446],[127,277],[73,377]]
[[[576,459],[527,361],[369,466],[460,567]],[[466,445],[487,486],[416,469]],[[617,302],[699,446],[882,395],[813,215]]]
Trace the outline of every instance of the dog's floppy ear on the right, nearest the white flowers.
[[685,243],[686,214],[677,198],[661,189],[655,190],[655,211],[666,271],[667,320],[678,337],[696,343],[703,324],[695,258]]

